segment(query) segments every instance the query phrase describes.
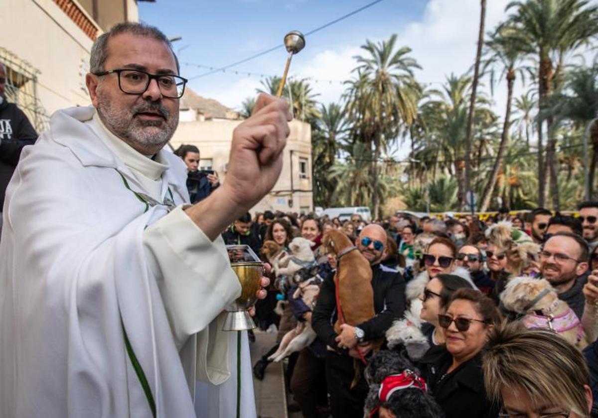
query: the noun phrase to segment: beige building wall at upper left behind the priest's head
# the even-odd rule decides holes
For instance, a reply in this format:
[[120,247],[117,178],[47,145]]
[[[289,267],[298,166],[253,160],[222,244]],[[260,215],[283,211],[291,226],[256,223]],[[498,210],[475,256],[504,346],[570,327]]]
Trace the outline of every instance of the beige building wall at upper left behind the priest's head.
[[[129,15],[136,20],[137,5],[128,1]],[[91,0],[78,4],[91,16]],[[112,26],[123,19],[123,0],[98,0],[98,5],[99,21]],[[0,46],[39,70],[37,94],[45,113],[89,105],[89,36],[53,0],[0,0],[0,10]]]

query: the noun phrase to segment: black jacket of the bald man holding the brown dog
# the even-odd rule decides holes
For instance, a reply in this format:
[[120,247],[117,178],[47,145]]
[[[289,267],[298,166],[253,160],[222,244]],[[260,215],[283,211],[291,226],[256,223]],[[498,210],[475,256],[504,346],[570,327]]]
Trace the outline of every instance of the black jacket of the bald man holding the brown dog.
[[[372,288],[374,290],[374,311],[376,316],[357,326],[364,330],[364,340],[385,336],[392,321],[401,318],[405,311],[405,281],[401,273],[380,264],[372,266]],[[355,295],[359,297],[359,295]],[[312,328],[318,337],[331,348],[340,352],[335,342],[337,320],[334,275],[324,279],[318,302],[312,314]]]

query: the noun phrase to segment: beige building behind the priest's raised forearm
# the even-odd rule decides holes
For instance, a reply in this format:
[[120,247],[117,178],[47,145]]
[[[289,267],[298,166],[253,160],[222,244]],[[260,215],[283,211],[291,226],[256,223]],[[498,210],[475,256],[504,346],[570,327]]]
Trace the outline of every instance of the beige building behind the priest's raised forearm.
[[[200,150],[202,159],[212,159],[213,169],[218,172],[221,179],[226,178],[225,167],[230,152],[230,142],[233,137],[234,128],[242,121],[210,120],[179,122],[175,135],[170,140],[173,147],[181,144],[193,144]],[[283,212],[300,213],[301,208],[306,211],[313,210],[312,190],[312,133],[309,124],[300,121],[292,121],[290,124],[291,134],[283,155],[282,173],[276,185],[264,199],[262,199],[251,212],[263,212],[264,210],[280,210]],[[292,171],[291,171],[292,156]],[[299,172],[300,159],[306,159],[307,178],[301,179]],[[291,174],[292,173],[292,174]],[[292,189],[306,190],[295,191]],[[289,202],[292,200],[292,207]]]

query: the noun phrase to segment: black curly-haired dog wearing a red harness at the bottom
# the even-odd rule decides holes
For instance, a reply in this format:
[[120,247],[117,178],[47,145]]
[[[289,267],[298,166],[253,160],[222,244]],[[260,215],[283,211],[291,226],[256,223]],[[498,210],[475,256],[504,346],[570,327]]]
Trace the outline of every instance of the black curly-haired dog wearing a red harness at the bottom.
[[365,398],[364,417],[377,416],[380,407],[401,418],[444,417],[440,405],[419,377],[419,370],[403,355],[386,350],[377,352],[365,368],[365,377],[370,391]]

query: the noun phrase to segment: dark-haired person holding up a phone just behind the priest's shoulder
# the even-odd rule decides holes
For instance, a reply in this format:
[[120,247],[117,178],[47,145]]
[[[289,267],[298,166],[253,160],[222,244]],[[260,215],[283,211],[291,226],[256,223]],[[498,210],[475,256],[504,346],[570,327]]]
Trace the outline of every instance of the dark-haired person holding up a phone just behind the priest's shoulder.
[[218,173],[214,170],[197,170],[199,167],[199,148],[195,145],[181,145],[175,155],[187,165],[187,190],[191,204],[207,198],[220,185]]

